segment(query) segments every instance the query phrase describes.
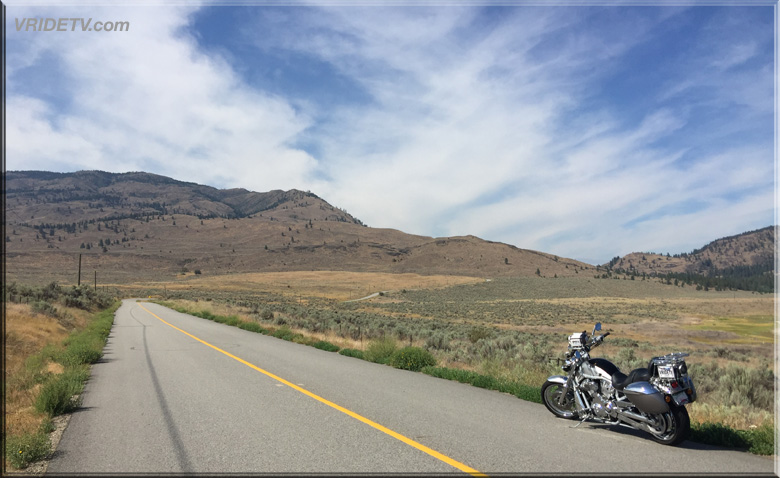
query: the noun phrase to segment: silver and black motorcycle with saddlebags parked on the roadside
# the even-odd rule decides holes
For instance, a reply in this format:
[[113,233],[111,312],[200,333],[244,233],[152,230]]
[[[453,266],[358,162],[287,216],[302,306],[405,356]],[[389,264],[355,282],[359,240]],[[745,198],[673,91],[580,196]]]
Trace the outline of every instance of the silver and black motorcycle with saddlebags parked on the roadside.
[[646,368],[625,375],[610,361],[591,358],[610,333],[590,337],[586,331],[569,336],[569,347],[561,367],[566,376],[554,375],[542,386],[542,401],[553,415],[621,425],[650,434],[664,445],[677,445],[690,433],[685,405],[696,401],[696,388],[688,376],[687,353],[673,353],[650,359]]

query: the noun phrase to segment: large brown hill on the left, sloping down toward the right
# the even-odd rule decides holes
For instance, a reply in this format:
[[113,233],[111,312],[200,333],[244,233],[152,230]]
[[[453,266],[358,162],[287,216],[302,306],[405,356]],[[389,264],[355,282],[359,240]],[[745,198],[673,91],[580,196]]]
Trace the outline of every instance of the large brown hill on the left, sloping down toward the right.
[[474,236],[367,227],[309,192],[220,190],[148,173],[9,171],[7,280],[167,280],[291,270],[590,276],[592,266]]

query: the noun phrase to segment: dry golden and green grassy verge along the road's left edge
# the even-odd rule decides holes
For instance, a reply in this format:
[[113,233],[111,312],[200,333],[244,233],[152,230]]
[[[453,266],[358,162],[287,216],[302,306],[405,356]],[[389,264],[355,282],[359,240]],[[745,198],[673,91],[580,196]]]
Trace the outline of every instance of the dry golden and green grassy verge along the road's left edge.
[[50,453],[53,419],[78,406],[73,397],[102,356],[118,303],[55,284],[4,286],[4,299],[5,465],[20,469]]

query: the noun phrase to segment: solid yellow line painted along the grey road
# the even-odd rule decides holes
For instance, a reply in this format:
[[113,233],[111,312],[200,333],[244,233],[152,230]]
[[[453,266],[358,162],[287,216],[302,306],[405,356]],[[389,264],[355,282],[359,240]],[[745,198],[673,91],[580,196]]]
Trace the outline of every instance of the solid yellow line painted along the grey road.
[[457,469],[459,469],[459,470],[461,470],[461,471],[463,471],[465,473],[469,473],[469,474],[471,474],[473,476],[487,476],[486,474],[481,473],[481,472],[475,470],[474,468],[471,468],[470,466],[464,465],[463,463],[461,463],[461,462],[459,462],[457,460],[453,460],[452,458],[448,457],[447,455],[444,455],[442,453],[439,453],[436,450],[428,448],[427,446],[423,445],[422,443],[418,443],[418,442],[412,440],[411,438],[408,438],[408,437],[406,437],[404,435],[401,435],[398,432],[390,430],[389,428],[387,428],[385,426],[382,426],[379,423],[376,423],[376,422],[374,422],[372,420],[369,420],[368,418],[366,418],[366,417],[364,417],[362,415],[358,415],[357,413],[353,412],[352,410],[348,410],[348,409],[346,409],[346,408],[344,408],[344,407],[342,407],[340,405],[337,405],[337,404],[331,402],[330,400],[322,398],[319,395],[306,390],[305,388],[301,388],[298,385],[295,385],[294,383],[288,382],[287,380],[285,380],[285,379],[283,379],[283,378],[281,378],[281,377],[279,377],[277,375],[272,374],[271,372],[263,370],[260,367],[258,367],[257,365],[249,363],[249,362],[247,362],[246,360],[244,360],[244,359],[242,359],[240,357],[236,357],[235,355],[231,354],[230,352],[226,352],[226,351],[222,350],[221,348],[219,348],[219,347],[217,347],[215,345],[211,345],[210,343],[206,342],[205,340],[202,340],[202,339],[192,335],[191,333],[189,333],[187,331],[184,331],[184,330],[176,327],[175,325],[170,324],[170,323],[166,322],[165,320],[161,319],[160,317],[157,316],[157,314],[155,314],[151,310],[149,310],[146,307],[144,307],[143,304],[138,303],[138,305],[142,309],[144,309],[146,312],[148,312],[149,314],[154,316],[157,320],[162,322],[163,324],[165,324],[165,325],[167,325],[169,327],[172,327],[172,328],[178,330],[179,332],[181,332],[181,333],[183,333],[185,335],[188,335],[188,336],[192,337],[193,339],[197,340],[198,342],[202,343],[203,345],[211,347],[212,349],[216,350],[217,352],[221,352],[221,353],[227,355],[228,357],[232,358],[233,360],[241,362],[242,364],[246,365],[247,367],[255,369],[258,372],[260,372],[260,373],[262,373],[264,375],[267,375],[268,377],[270,377],[270,378],[272,378],[272,379],[274,379],[274,380],[276,380],[278,382],[281,382],[281,383],[287,385],[288,387],[293,388],[293,389],[301,392],[302,394],[307,395],[307,396],[317,400],[318,402],[324,403],[325,405],[327,405],[327,406],[329,406],[331,408],[335,408],[336,410],[340,411],[341,413],[349,415],[350,417],[352,417],[352,418],[354,418],[356,420],[359,420],[359,421],[365,423],[366,425],[374,427],[377,430],[381,431],[382,433],[386,433],[386,434],[390,435],[391,437],[393,437],[393,438],[395,438],[397,440],[400,440],[400,441],[406,443],[409,446],[417,448],[418,450],[420,450],[420,451],[422,451],[424,453],[427,453],[428,455],[430,455],[430,456],[432,456],[432,457],[434,457],[434,458],[436,458],[436,459],[438,459],[440,461],[443,461],[444,463],[447,463],[448,465],[453,466],[453,467],[455,467],[455,468],[457,468]]

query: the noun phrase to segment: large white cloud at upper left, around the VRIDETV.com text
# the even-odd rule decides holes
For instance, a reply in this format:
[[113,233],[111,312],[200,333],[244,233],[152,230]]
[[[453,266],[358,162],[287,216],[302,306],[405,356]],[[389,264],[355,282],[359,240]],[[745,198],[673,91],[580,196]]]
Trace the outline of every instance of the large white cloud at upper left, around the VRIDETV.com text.
[[[152,169],[254,190],[307,181],[316,160],[290,144],[310,120],[284,99],[247,87],[225,62],[200,52],[186,33],[192,9],[77,12],[46,10],[45,17],[121,19],[130,30],[11,32],[14,57],[56,55],[72,106],[58,111],[11,91],[9,169],[51,167],[50,161],[69,170]],[[11,68],[11,81],[24,75],[24,66]]]

